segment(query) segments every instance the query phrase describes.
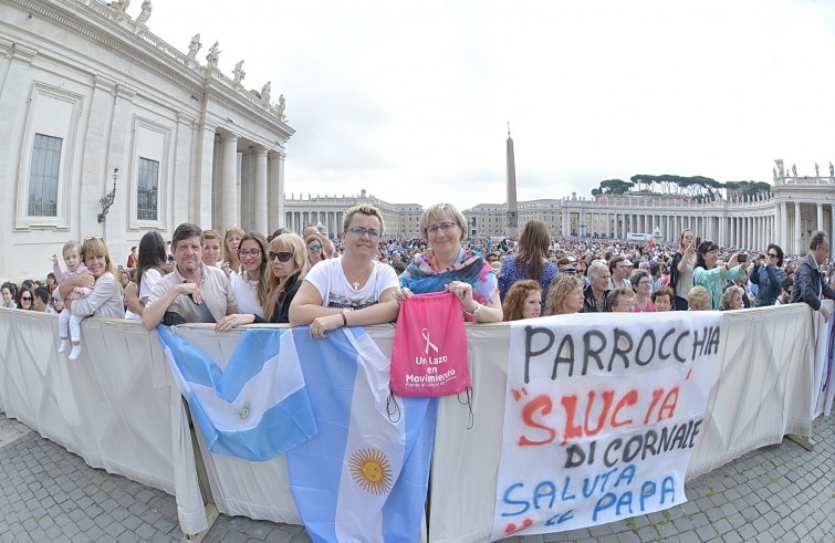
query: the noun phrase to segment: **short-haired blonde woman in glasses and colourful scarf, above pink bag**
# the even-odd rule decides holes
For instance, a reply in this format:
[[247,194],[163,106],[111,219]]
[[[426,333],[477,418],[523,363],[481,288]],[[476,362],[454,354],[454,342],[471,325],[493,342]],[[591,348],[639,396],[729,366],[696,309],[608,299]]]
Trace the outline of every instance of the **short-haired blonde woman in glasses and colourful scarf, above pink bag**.
[[420,230],[430,249],[400,274],[397,299],[451,292],[461,301],[466,321],[498,323],[503,317],[495,271],[484,258],[461,248],[467,219],[451,203],[436,203],[420,216]]

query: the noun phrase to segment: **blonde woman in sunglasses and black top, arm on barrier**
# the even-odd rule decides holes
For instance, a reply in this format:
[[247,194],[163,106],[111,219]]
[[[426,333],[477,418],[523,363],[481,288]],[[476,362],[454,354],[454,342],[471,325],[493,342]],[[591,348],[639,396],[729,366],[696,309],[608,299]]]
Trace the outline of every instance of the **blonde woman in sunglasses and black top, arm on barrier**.
[[267,252],[270,292],[267,295],[263,316],[255,313],[227,315],[220,320],[215,330],[227,332],[244,324],[289,323],[290,304],[307,273],[305,252],[304,240],[301,236],[288,232],[274,237]]

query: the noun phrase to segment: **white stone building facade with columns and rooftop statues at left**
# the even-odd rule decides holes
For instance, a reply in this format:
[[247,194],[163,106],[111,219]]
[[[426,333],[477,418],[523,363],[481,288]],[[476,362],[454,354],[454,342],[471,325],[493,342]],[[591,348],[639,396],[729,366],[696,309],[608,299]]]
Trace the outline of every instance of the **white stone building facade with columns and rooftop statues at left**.
[[104,237],[123,262],[152,229],[280,226],[283,96],[127,4],[0,0],[0,276],[43,276],[70,239]]

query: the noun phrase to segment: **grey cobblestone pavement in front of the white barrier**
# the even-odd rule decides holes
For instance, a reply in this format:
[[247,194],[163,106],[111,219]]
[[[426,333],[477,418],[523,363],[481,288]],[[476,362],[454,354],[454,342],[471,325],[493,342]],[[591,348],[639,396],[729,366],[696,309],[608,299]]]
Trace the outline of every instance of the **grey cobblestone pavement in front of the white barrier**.
[[[783,440],[690,481],[687,503],[524,542],[835,542],[835,416],[813,451]],[[0,415],[0,541],[179,541],[174,497],[94,469]],[[307,542],[301,526],[220,515],[205,541]]]

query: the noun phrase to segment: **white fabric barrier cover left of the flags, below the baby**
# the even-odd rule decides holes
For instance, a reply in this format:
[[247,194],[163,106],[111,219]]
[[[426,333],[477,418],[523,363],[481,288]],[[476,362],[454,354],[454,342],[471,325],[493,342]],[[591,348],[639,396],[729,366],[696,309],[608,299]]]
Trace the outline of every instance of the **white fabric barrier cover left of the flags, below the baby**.
[[58,319],[0,309],[0,405],[94,467],[176,495],[185,533],[208,528],[188,419],[156,332],[87,319],[58,354]]

